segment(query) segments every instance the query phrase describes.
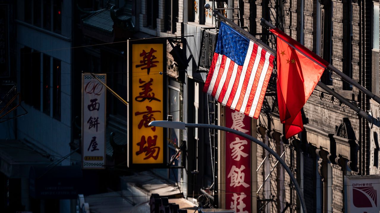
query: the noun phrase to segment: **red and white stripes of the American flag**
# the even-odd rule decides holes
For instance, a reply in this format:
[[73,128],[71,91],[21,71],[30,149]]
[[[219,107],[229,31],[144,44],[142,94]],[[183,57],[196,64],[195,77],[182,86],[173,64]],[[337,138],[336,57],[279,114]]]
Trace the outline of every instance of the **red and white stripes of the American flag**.
[[258,118],[273,69],[274,56],[249,42],[243,66],[225,55],[214,53],[204,92],[219,103]]

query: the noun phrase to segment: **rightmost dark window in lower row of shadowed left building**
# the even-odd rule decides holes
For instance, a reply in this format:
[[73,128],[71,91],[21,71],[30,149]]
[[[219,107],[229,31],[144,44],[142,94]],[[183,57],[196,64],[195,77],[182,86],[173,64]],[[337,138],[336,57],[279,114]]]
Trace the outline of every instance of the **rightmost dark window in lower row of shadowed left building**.
[[61,120],[61,61],[53,58],[53,117]]

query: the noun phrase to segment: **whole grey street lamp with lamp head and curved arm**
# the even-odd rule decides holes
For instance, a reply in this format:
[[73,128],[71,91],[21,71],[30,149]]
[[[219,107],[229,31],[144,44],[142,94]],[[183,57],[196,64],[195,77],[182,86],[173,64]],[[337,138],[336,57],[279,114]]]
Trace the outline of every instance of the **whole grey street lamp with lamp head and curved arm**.
[[152,121],[149,123],[149,126],[164,127],[164,128],[175,128],[175,129],[186,129],[186,127],[209,128],[209,129],[215,129],[215,130],[222,130],[225,132],[231,132],[231,133],[234,133],[235,135],[242,136],[244,138],[249,139],[250,141],[255,142],[256,144],[258,144],[259,146],[261,146],[265,150],[267,150],[269,153],[271,153],[280,162],[280,164],[283,166],[283,168],[285,168],[285,170],[288,172],[290,179],[293,182],[294,187],[296,188],[298,198],[301,202],[302,212],[307,213],[306,204],[305,204],[304,196],[302,195],[301,188],[299,188],[297,180],[294,177],[293,173],[291,172],[290,168],[285,163],[285,161],[283,161],[282,158],[274,150],[272,150],[269,146],[267,146],[263,142],[259,141],[258,139],[253,138],[250,135],[247,135],[243,132],[239,132],[237,130],[234,130],[234,129],[231,129],[228,127],[222,127],[222,126],[212,125],[212,124],[186,124],[184,122],[173,121],[173,116],[171,116],[171,115],[168,115],[168,121]]

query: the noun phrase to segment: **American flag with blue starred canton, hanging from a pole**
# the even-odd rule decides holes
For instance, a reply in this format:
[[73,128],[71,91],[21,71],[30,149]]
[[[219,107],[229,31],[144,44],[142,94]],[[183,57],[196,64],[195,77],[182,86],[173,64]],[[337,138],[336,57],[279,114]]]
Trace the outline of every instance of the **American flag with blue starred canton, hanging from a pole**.
[[219,103],[258,118],[274,55],[221,22],[203,92]]

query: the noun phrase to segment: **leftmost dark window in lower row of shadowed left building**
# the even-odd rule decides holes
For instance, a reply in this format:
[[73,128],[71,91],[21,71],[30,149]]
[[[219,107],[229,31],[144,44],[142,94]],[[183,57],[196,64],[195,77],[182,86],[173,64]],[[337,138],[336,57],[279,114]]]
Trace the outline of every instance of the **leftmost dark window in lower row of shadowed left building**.
[[20,50],[20,68],[21,68],[21,99],[24,100],[26,104],[31,105],[31,72],[30,67],[32,67],[32,49],[29,47],[22,48]]

